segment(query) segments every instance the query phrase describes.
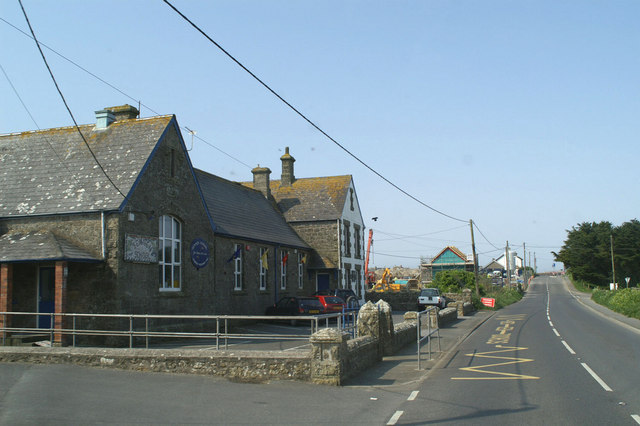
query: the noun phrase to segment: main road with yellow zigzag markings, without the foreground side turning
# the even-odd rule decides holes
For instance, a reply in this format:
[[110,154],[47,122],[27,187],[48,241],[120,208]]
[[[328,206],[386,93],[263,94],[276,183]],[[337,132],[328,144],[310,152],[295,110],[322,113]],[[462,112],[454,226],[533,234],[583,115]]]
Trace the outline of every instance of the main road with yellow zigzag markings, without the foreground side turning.
[[387,424],[640,424],[640,334],[537,278],[411,395]]

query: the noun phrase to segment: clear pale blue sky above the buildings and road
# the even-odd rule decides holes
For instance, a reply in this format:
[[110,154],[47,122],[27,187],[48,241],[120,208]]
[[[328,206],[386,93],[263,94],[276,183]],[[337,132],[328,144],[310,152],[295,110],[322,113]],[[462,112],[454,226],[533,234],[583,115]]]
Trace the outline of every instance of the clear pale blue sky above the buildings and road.
[[[471,253],[473,219],[481,266],[508,240],[547,271],[572,226],[638,218],[636,0],[172,1],[359,159],[459,220],[362,166],[161,0],[23,4],[40,42],[119,89],[44,49],[79,124],[140,101],[142,116],[195,130],[194,166],[221,177],[251,180],[259,164],[279,179],[286,146],[297,177],[351,174],[374,266]],[[18,1],[0,18],[0,133],[71,125],[12,27],[29,32]]]

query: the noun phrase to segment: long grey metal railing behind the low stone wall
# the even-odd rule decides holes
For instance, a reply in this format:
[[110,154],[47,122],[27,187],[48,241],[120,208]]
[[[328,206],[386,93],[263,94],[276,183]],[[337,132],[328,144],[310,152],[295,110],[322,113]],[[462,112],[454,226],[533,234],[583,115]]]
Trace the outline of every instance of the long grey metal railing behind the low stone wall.
[[[35,323],[40,319],[49,319],[49,327],[11,327],[7,326],[16,317],[32,316]],[[321,327],[328,328],[335,320],[335,326],[349,332],[352,337],[356,334],[357,312],[345,311],[342,313],[323,315],[300,315],[300,316],[266,316],[266,315],[146,315],[146,314],[81,314],[81,313],[37,313],[37,312],[0,312],[2,326],[2,345],[6,345],[8,334],[22,333],[26,335],[43,335],[49,337],[51,344],[55,339],[62,340],[63,336],[70,336],[71,346],[76,346],[76,340],[80,336],[112,336],[124,337],[129,340],[129,348],[134,347],[136,339],[144,339],[144,347],[149,348],[151,338],[165,339],[215,339],[216,349],[223,345],[228,349],[229,341],[234,339],[242,340],[308,340]],[[101,320],[106,323],[109,320],[116,322],[117,327],[113,328],[88,328],[83,327],[87,321],[84,319]],[[56,327],[56,320],[61,327]],[[211,328],[211,331],[169,331],[167,328],[180,327],[188,329],[189,321],[198,321],[199,328]],[[309,334],[288,334],[288,333],[234,333],[230,330],[230,325],[236,326],[242,322],[278,322],[295,321],[301,324],[308,323]],[[22,321],[25,323],[26,321]],[[128,326],[126,323],[128,322]],[[150,322],[162,322],[163,324],[150,324]],[[208,324],[210,323],[210,324]]]

